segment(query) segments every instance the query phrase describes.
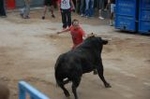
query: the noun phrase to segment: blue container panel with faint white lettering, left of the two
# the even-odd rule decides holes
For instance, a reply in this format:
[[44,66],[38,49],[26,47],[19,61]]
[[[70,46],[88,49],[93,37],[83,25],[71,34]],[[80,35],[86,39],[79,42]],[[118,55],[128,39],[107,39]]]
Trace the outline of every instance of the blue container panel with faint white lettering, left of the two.
[[116,29],[137,31],[137,3],[137,0],[116,0]]

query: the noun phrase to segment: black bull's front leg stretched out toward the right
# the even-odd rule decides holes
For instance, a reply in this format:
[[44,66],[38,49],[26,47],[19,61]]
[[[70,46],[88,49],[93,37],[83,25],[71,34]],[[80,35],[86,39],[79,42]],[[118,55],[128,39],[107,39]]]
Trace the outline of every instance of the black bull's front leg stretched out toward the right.
[[104,85],[105,85],[105,87],[106,88],[110,88],[111,86],[110,86],[110,84],[105,80],[105,77],[104,77],[104,69],[103,69],[103,64],[101,64],[101,65],[99,65],[98,67],[97,67],[97,72],[98,72],[98,75],[99,75],[99,77],[100,77],[100,79],[103,81],[103,83],[104,83]]

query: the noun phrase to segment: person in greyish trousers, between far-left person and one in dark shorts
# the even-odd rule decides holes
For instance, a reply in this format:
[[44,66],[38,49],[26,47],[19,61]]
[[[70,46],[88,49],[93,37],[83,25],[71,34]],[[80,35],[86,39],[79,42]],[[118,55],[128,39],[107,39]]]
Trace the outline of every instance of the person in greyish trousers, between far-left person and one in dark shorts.
[[20,15],[24,19],[29,19],[31,0],[24,0],[24,4],[25,4],[25,7],[21,9]]

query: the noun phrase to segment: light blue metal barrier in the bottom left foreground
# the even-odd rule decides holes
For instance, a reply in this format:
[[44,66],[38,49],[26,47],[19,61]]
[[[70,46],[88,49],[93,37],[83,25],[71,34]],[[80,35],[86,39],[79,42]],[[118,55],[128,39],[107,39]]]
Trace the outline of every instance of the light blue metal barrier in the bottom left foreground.
[[50,99],[25,81],[20,81],[18,87],[19,99],[26,99],[26,93],[30,95],[30,99]]

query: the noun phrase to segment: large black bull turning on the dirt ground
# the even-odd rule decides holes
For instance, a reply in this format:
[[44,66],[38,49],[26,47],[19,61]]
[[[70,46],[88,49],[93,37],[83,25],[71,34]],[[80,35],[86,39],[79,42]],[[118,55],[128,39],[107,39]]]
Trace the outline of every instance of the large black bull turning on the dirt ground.
[[82,74],[91,72],[94,69],[97,70],[105,87],[111,87],[103,76],[104,70],[101,59],[103,45],[107,43],[108,41],[103,40],[101,37],[92,36],[77,48],[59,56],[55,64],[55,78],[66,97],[70,96],[70,94],[64,85],[72,81],[72,92],[75,99],[78,99],[76,89],[80,84]]

